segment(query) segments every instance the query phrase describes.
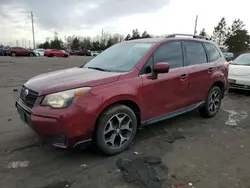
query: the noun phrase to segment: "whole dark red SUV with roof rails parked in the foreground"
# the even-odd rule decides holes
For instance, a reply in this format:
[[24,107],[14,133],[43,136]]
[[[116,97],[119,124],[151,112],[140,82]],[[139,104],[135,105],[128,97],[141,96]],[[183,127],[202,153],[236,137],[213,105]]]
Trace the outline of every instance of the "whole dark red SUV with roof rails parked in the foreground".
[[228,63],[209,40],[150,38],[116,44],[87,64],[28,80],[16,101],[21,119],[56,147],[94,140],[108,155],[137,129],[199,109],[218,112]]

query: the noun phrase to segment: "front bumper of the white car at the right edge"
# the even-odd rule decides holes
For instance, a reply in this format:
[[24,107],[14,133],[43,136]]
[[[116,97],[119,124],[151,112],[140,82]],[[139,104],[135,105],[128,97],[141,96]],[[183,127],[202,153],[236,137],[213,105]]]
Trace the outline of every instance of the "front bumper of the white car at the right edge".
[[250,91],[250,79],[247,78],[238,78],[238,77],[229,77],[229,88],[230,89],[239,89],[239,90],[248,90]]

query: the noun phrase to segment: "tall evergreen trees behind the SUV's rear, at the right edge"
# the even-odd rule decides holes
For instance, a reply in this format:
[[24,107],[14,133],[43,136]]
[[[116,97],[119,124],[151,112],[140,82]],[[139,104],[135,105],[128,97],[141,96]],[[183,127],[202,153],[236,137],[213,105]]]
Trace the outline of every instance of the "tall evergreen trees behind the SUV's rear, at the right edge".
[[[200,36],[208,36],[203,28]],[[245,29],[245,24],[241,19],[235,19],[231,25],[228,25],[223,17],[214,27],[212,40],[219,46],[226,48],[226,51],[233,52],[236,56],[249,51],[250,36]]]

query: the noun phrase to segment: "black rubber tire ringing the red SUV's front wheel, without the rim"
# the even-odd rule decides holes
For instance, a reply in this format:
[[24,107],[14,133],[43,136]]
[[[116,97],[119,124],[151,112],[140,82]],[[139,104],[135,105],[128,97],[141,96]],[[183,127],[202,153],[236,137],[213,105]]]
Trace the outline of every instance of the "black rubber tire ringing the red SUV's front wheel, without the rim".
[[[129,138],[127,143],[124,144],[123,147],[121,147],[119,149],[110,149],[106,146],[105,141],[104,141],[104,136],[103,136],[104,127],[105,127],[106,123],[108,122],[108,120],[112,116],[114,116],[115,114],[118,114],[118,113],[125,113],[131,118],[133,131],[132,131],[131,137]],[[125,105],[115,105],[115,106],[105,110],[101,114],[100,118],[97,121],[96,144],[99,147],[99,149],[102,151],[103,154],[115,155],[115,154],[121,153],[122,151],[126,150],[132,144],[134,137],[136,135],[136,132],[137,132],[137,118],[136,118],[136,115],[133,112],[133,110],[131,110],[129,107],[127,107]]]

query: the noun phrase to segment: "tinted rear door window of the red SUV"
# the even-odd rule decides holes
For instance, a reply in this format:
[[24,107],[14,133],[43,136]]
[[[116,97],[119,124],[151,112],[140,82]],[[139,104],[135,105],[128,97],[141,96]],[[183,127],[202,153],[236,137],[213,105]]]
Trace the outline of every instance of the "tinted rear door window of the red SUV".
[[207,55],[203,45],[200,42],[183,42],[187,65],[197,65],[207,63]]

